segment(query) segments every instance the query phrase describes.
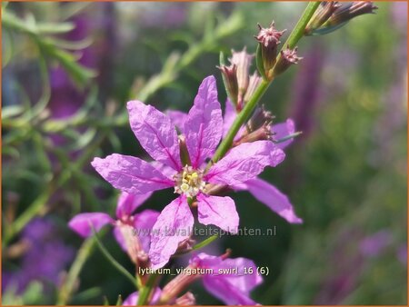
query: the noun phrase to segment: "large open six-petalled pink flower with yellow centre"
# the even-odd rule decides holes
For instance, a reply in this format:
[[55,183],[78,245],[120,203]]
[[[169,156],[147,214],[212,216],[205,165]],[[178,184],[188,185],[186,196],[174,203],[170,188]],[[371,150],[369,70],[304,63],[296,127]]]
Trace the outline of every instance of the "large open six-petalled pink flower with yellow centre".
[[[214,76],[202,82],[195,103],[185,118],[181,129],[185,134],[185,147],[179,145],[182,142],[179,142],[175,125],[168,115],[139,101],[129,102],[127,109],[136,138],[158,164],[117,153],[104,159],[95,158],[92,164],[106,181],[126,193],[150,193],[173,187],[179,194],[165,207],[154,225],[149,252],[153,268],[164,266],[178,244],[190,236],[194,225],[189,207],[191,201],[197,203],[200,223],[214,224],[224,231],[236,233],[239,217],[233,199],[208,195],[206,184],[234,185],[254,179],[265,166],[281,163],[284,152],[271,141],[240,144],[205,169],[206,160],[214,154],[223,134],[222,110],[217,101]],[[188,162],[181,160],[184,148]]]

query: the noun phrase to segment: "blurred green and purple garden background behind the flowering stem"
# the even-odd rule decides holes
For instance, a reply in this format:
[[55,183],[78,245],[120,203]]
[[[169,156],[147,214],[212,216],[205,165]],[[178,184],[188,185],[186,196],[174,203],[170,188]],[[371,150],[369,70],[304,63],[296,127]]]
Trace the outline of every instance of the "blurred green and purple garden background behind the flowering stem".
[[[288,35],[306,4],[2,5],[3,304],[115,304],[132,285],[67,222],[115,213],[117,191],[90,167],[94,156],[145,155],[125,103],[137,97],[186,111],[214,74],[224,104],[219,52],[245,45],[254,53],[256,24],[273,19]],[[304,60],[262,99],[276,122],[291,117],[304,132],[263,174],[304,223],[235,193],[241,226],[275,226],[276,235],[209,245],[270,269],[256,302],[407,303],[407,4],[376,5],[376,15],[304,37]],[[155,193],[144,208],[171,199],[171,191]],[[112,233],[101,237],[133,272]],[[221,303],[201,282],[193,292],[198,304]]]

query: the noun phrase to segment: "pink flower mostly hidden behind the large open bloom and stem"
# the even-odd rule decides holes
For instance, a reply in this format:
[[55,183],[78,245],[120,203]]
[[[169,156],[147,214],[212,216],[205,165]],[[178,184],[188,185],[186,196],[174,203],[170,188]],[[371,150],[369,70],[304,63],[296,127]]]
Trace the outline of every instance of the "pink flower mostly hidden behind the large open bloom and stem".
[[[172,122],[179,129],[179,131],[183,133],[184,124],[188,115],[174,110],[167,111],[167,114],[171,117]],[[230,100],[227,100],[224,109],[223,135],[227,134],[236,116],[237,114],[234,111],[234,105],[232,102],[230,102]],[[239,139],[244,130],[245,127],[242,127],[235,139]],[[274,135],[276,140],[282,139],[290,134],[294,134],[294,121],[292,119],[287,119],[284,123],[272,125],[271,133]],[[276,144],[276,147],[284,149],[292,143],[293,139],[289,139],[283,143]],[[249,193],[252,193],[255,199],[261,203],[264,203],[274,213],[277,213],[283,217],[287,222],[303,223],[303,220],[295,214],[294,207],[288,200],[288,197],[284,193],[281,193],[273,184],[267,183],[263,179],[254,177],[254,179],[243,183],[232,184],[231,187],[234,189],[234,191],[248,191]]]

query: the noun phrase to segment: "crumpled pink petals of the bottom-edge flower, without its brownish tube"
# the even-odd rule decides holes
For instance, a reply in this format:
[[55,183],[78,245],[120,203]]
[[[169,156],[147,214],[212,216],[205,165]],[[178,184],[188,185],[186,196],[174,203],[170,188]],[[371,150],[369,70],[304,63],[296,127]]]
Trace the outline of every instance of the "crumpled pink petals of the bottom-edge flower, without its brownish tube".
[[[203,276],[205,289],[225,304],[257,304],[250,298],[250,292],[263,282],[263,278],[257,273],[253,261],[246,258],[224,259],[199,253],[191,260],[191,264],[203,269],[213,269],[213,274]],[[234,269],[237,272],[232,271]]]

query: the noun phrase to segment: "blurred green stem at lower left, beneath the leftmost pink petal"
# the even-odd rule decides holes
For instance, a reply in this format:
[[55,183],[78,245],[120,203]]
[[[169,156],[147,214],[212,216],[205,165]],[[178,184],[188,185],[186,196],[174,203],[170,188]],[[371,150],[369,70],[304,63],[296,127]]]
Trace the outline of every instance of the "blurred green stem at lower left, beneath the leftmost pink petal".
[[83,266],[88,259],[88,257],[93,253],[95,249],[95,238],[91,237],[85,240],[81,245],[78,253],[76,254],[75,261],[71,265],[70,271],[68,272],[65,282],[60,288],[58,293],[57,305],[66,305],[69,301],[71,295],[73,294],[75,282],[78,278],[79,273],[83,269]]

